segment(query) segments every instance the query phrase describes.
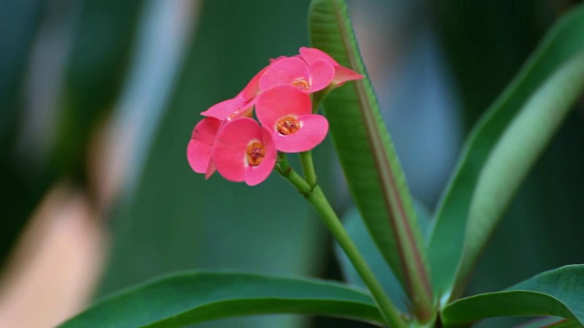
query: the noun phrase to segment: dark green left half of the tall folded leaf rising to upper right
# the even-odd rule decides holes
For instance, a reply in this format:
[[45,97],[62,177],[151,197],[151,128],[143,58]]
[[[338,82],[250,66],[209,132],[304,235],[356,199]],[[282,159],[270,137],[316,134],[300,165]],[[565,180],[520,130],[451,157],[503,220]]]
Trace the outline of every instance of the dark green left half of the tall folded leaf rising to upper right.
[[[487,159],[500,138],[506,134],[506,129],[518,113],[526,107],[528,99],[558,70],[558,67],[579,51],[584,50],[584,38],[581,37],[583,34],[584,5],[580,5],[565,15],[550,30],[525,67],[495,101],[495,104],[489,108],[485,117],[468,138],[458,167],[438,207],[428,243],[433,289],[434,292],[445,295],[444,300],[450,297],[454,275],[463,256],[467,218],[474,199],[474,190]],[[560,108],[557,110],[560,111]],[[565,115],[565,111],[558,112],[556,115],[561,117]],[[542,122],[542,124],[545,123]],[[550,126],[553,124],[550,123]],[[547,139],[544,140],[544,136],[541,138],[539,142],[545,144]],[[524,166],[524,169],[528,166]],[[525,172],[518,173],[525,174]],[[512,183],[519,181],[520,179],[516,179]],[[500,214],[501,212],[492,213],[493,217],[498,217]]]

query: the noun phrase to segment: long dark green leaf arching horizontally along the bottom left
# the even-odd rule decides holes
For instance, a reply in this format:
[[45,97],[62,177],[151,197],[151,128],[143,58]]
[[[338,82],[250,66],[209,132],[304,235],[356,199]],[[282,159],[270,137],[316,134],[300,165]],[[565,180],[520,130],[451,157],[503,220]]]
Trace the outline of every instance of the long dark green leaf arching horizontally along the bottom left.
[[114,294],[61,327],[180,327],[268,313],[382,321],[368,294],[339,283],[250,273],[183,272]]

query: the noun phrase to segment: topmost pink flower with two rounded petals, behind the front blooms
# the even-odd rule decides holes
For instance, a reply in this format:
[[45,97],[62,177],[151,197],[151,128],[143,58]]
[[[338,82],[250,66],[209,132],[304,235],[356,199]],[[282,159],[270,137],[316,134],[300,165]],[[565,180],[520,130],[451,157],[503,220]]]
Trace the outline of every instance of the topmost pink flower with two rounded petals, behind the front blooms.
[[335,67],[323,59],[316,59],[310,65],[299,56],[278,57],[259,79],[262,90],[277,85],[290,85],[307,93],[328,87],[335,76]]

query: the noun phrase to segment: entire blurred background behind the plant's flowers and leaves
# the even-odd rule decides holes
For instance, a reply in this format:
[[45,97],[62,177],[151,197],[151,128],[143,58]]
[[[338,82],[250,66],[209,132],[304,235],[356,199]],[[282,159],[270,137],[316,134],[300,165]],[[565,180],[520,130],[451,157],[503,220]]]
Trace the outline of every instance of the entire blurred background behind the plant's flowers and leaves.
[[[349,1],[412,193],[428,209],[470,128],[578,2]],[[0,326],[52,326],[184,269],[342,279],[328,234],[286,181],[205,181],[185,156],[201,111],[269,58],[308,46],[307,12],[308,0],[0,0]],[[469,293],[584,262],[583,107],[529,175]],[[349,210],[330,140],[315,154],[325,190]],[[275,315],[199,326],[368,325]]]

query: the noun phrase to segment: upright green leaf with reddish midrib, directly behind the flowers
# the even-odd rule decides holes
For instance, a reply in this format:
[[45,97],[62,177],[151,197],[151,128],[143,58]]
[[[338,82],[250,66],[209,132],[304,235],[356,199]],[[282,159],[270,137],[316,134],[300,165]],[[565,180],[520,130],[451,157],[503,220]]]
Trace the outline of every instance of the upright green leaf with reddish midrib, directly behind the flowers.
[[[308,27],[312,46],[367,75],[344,1],[313,1]],[[418,317],[431,317],[433,296],[422,233],[369,78],[332,91],[324,111],[349,189],[373,241],[414,302]]]

